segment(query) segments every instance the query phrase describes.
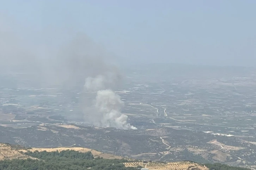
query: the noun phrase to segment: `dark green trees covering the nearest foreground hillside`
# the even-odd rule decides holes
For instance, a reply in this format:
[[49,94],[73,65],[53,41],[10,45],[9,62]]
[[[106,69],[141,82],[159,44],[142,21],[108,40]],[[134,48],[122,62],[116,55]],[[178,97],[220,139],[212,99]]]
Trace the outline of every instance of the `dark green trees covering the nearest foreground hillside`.
[[[12,159],[0,161],[0,170],[137,170],[141,167],[126,168],[126,159],[102,159],[93,157],[91,152],[80,153],[66,150],[55,152],[25,152],[36,159]],[[205,164],[210,170],[249,170],[224,164]]]

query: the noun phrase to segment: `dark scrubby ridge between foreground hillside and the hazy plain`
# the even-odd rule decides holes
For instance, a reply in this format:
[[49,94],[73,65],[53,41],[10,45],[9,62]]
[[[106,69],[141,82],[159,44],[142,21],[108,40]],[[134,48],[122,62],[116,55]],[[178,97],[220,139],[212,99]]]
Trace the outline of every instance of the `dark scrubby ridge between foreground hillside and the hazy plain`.
[[[156,162],[189,160],[256,169],[255,145],[248,143],[249,139],[246,142],[236,137],[168,127],[141,129],[134,133],[133,130],[80,125],[38,125],[18,129],[0,126],[0,136],[1,142],[40,148],[41,151],[42,148],[78,146],[87,150],[93,148],[113,158],[112,155]],[[92,152],[96,156],[101,154]]]

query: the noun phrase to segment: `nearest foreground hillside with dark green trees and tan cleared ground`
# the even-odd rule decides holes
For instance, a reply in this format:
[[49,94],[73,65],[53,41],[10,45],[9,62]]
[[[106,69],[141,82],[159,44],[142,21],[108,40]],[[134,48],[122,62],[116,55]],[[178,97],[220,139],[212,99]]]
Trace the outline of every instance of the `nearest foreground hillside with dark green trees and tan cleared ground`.
[[[210,167],[210,168],[208,168]],[[24,148],[19,145],[0,143],[1,170],[54,170],[54,169],[97,169],[97,170],[248,170],[222,164],[200,164],[183,162],[151,162],[123,159],[81,147],[67,148]]]

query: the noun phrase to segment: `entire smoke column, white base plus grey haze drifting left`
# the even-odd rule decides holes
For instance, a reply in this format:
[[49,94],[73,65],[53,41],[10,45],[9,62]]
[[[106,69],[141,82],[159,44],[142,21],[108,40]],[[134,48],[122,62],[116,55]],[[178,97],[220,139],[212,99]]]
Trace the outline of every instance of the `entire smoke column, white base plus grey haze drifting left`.
[[112,54],[83,33],[67,33],[70,37],[66,39],[51,36],[54,33],[42,33],[43,37],[31,36],[37,37],[31,44],[26,36],[19,38],[21,31],[11,30],[6,23],[0,18],[0,72],[33,74],[29,76],[29,82],[36,82],[32,87],[79,87],[86,95],[80,104],[87,122],[136,129],[121,114],[120,96],[111,91],[121,79]]

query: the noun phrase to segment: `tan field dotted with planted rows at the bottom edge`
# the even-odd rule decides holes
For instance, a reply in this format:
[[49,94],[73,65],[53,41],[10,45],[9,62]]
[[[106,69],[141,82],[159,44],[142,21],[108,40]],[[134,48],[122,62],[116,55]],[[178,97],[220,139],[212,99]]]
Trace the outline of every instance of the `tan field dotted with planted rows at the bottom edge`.
[[197,168],[198,170],[208,170],[205,166],[199,165],[192,162],[170,162],[170,163],[158,163],[158,162],[127,162],[123,163],[126,167],[137,167],[148,168],[150,170],[190,170]]

